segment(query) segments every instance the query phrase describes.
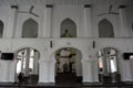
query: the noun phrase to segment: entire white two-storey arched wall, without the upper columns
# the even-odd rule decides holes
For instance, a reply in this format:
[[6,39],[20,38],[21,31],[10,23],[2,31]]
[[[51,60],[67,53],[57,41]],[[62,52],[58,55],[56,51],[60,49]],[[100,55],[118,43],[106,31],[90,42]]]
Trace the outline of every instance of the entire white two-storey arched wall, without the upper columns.
[[[30,7],[23,6],[19,10],[29,10]],[[99,8],[99,7],[98,7]],[[105,16],[96,16],[99,12],[98,8],[92,8],[92,29],[93,29],[93,36],[98,37],[98,23],[101,19],[109,19],[113,26],[115,36],[124,36],[121,34],[121,30],[119,26],[119,19],[117,15],[105,15]],[[4,35],[3,37],[8,36],[8,32],[10,32],[9,25],[9,7],[1,7],[0,8],[0,20],[4,22]],[[101,9],[102,10],[102,9]],[[103,47],[114,47],[119,51],[119,63],[120,63],[120,73],[122,76],[123,81],[133,81],[133,69],[132,66],[133,62],[124,61],[122,58],[122,54],[124,52],[132,52],[133,51],[133,38],[83,38],[84,30],[83,28],[83,6],[53,6],[53,14],[52,14],[52,36],[59,37],[60,36],[60,24],[61,22],[70,18],[76,24],[78,30],[78,37],[82,38],[19,38],[21,37],[22,32],[22,24],[23,22],[32,18],[39,23],[39,37],[43,36],[44,29],[44,19],[43,14],[45,12],[44,7],[38,7],[34,9],[40,18],[35,18],[30,14],[22,14],[18,13],[17,18],[17,26],[16,26],[16,34],[17,38],[1,38],[0,40],[0,51],[1,52],[12,52],[17,53],[17,51],[23,47],[33,47],[40,52],[40,76],[39,82],[54,82],[54,52],[61,47],[74,47],[81,51],[82,53],[82,75],[84,82],[92,82],[98,81],[98,58],[96,52]],[[102,11],[104,12],[104,11]],[[130,20],[127,22],[131,23]],[[129,25],[130,26],[130,25]],[[129,34],[130,35],[130,34]],[[132,33],[131,33],[132,35]],[[50,47],[50,41],[53,41],[53,47]],[[92,48],[93,40],[95,40],[95,48]],[[16,59],[12,62],[1,61],[0,59],[0,81],[14,81],[14,72],[16,72]],[[10,67],[10,70],[9,70]],[[10,75],[9,75],[10,74]]]

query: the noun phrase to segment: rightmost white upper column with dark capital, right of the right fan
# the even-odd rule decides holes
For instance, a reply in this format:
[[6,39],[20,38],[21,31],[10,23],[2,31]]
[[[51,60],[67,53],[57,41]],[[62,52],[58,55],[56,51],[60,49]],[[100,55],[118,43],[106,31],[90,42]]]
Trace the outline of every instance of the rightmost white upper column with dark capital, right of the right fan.
[[125,15],[125,6],[120,6],[120,32],[122,37],[129,36],[127,28],[126,28],[126,15]]

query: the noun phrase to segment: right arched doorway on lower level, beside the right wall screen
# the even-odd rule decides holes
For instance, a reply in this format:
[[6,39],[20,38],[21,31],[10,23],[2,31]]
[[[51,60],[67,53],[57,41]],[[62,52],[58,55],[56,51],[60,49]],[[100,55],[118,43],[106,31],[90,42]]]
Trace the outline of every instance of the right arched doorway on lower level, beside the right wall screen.
[[99,80],[101,82],[119,82],[121,80],[119,72],[117,51],[105,47],[98,52],[99,58]]

